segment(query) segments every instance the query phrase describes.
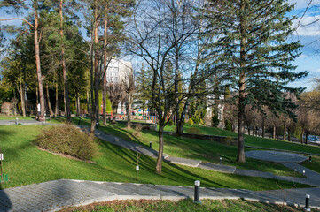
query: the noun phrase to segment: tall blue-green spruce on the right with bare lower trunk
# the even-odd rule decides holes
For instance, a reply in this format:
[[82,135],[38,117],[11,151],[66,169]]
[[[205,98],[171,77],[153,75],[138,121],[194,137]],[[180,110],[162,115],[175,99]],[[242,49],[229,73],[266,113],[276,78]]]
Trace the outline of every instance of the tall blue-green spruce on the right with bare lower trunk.
[[[215,42],[207,45],[209,67],[220,72],[237,91],[238,162],[246,162],[244,151],[245,107],[252,105],[273,112],[291,112],[295,105],[285,92],[300,95],[302,88],[287,87],[288,82],[305,77],[294,73],[290,64],[299,56],[300,42],[287,42],[294,17],[286,16],[293,4],[285,0],[208,1],[203,8],[207,34]],[[262,111],[263,112],[263,111]]]

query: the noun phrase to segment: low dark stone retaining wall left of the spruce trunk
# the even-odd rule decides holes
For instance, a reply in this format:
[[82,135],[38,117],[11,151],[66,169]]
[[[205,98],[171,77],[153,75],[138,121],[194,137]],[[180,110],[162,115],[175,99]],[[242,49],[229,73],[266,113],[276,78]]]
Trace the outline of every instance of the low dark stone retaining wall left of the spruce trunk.
[[[166,134],[175,135],[176,133],[172,132],[165,132]],[[230,146],[237,146],[238,139],[236,137],[229,137],[229,136],[216,136],[216,135],[203,135],[203,134],[191,134],[191,133],[183,133],[184,138],[190,139],[199,139],[199,140],[210,140],[219,142],[225,145]]]

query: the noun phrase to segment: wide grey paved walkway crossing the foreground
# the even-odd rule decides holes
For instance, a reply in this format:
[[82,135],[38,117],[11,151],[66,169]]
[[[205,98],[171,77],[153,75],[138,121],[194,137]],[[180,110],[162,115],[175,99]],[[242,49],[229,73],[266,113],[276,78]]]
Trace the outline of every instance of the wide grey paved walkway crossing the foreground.
[[[179,200],[193,197],[191,186],[143,185],[59,179],[40,184],[0,190],[0,211],[55,211],[66,206],[113,200]],[[254,192],[244,189],[201,188],[201,199],[238,199],[264,201],[303,207],[306,193],[310,206],[320,208],[320,188]]]

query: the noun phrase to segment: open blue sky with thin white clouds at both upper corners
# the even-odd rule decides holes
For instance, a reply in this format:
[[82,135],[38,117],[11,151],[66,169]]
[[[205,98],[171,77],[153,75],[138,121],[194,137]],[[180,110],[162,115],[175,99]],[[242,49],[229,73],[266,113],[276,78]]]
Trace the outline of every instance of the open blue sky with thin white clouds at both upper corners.
[[[293,27],[298,26],[300,22],[300,27],[297,31],[290,37],[289,41],[297,41],[304,45],[301,49],[301,56],[298,57],[293,64],[297,65],[295,72],[308,71],[310,72],[308,77],[305,79],[300,79],[290,83],[291,87],[307,87],[310,91],[314,87],[314,83],[311,81],[312,78],[320,77],[320,21],[308,25],[309,23],[320,19],[320,10],[316,8],[315,5],[320,6],[320,0],[312,0],[308,12],[300,17],[304,13],[310,0],[289,0],[289,3],[295,3],[295,9],[288,15],[296,15],[298,19],[294,21]],[[0,19],[12,18],[12,15],[6,14],[4,10],[0,10]],[[22,18],[22,17],[20,17]],[[7,21],[7,24],[20,25],[22,21],[11,20]],[[5,23],[1,23],[5,24]],[[319,52],[317,52],[317,50]]]

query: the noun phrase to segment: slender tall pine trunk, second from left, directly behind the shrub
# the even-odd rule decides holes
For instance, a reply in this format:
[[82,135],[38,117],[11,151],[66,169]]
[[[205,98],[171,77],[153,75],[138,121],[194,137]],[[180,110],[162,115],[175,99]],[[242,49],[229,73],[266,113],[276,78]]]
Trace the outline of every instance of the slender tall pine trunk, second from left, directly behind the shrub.
[[66,107],[66,120],[71,122],[71,111],[70,111],[70,99],[69,99],[69,88],[67,86],[67,76],[66,76],[66,61],[65,61],[65,46],[63,43],[63,14],[62,14],[63,0],[60,0],[59,4],[59,14],[60,14],[60,36],[61,36],[61,64],[63,72],[63,82],[65,87],[65,107]]

